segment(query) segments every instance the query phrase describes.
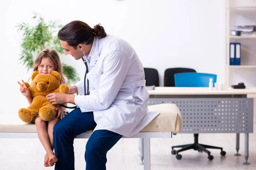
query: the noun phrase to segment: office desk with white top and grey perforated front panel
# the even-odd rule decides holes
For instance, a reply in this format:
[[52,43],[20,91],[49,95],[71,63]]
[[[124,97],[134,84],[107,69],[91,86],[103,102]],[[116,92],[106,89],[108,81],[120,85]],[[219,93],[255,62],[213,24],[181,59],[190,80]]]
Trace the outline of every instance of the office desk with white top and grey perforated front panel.
[[209,91],[209,88],[156,87],[148,90],[149,105],[175,103],[180,109],[183,127],[180,133],[236,133],[236,156],[239,134],[244,133],[243,164],[249,157],[249,133],[253,133],[253,99],[256,88]]

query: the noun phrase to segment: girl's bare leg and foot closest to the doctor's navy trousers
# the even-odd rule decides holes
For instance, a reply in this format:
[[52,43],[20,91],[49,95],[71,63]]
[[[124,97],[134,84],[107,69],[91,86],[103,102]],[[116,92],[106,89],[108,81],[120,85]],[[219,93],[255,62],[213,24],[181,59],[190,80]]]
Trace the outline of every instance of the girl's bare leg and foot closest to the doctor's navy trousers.
[[[55,117],[54,119],[52,119],[51,121],[48,122],[48,135],[49,135],[52,150],[53,150],[53,127],[58,121],[59,121],[59,119],[57,117]],[[53,155],[53,156],[49,157],[48,164],[51,165],[51,164],[53,164],[53,162],[56,162],[56,161],[58,161],[58,159],[56,158],[55,155]]]

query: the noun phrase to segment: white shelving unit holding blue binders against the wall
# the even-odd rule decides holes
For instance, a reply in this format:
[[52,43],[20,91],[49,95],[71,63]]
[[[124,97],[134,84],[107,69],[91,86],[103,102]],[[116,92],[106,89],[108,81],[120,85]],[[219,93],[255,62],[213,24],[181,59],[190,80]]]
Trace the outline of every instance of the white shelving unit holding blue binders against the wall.
[[[256,86],[256,36],[231,36],[230,31],[237,25],[256,26],[255,0],[226,0],[225,40],[226,40],[226,77],[227,85],[244,82]],[[255,16],[255,17],[253,17]],[[230,65],[230,42],[241,43],[241,65]],[[239,75],[241,74],[241,75]]]

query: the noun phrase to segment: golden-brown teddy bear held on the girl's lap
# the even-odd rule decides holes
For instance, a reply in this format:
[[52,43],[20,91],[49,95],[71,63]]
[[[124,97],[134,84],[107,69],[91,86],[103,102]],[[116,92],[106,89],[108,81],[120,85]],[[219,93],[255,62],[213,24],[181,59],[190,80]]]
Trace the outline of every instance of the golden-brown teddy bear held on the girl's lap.
[[32,76],[32,85],[25,82],[32,96],[32,103],[27,108],[21,108],[18,113],[23,122],[32,122],[36,116],[44,121],[52,120],[57,111],[55,108],[58,105],[52,105],[46,98],[50,93],[65,93],[69,94],[69,88],[66,84],[61,84],[61,75],[57,71],[52,71],[50,74],[39,74],[34,71]]

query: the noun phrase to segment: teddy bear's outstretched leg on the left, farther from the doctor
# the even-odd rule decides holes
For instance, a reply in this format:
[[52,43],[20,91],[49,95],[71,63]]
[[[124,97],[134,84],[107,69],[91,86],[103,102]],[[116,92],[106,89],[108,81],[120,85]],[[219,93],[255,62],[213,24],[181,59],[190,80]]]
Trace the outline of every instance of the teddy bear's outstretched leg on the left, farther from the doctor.
[[23,122],[29,123],[32,122],[32,120],[35,119],[35,117],[38,115],[38,110],[31,109],[31,108],[21,108],[19,111],[19,117]]

